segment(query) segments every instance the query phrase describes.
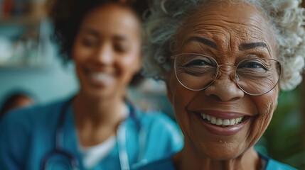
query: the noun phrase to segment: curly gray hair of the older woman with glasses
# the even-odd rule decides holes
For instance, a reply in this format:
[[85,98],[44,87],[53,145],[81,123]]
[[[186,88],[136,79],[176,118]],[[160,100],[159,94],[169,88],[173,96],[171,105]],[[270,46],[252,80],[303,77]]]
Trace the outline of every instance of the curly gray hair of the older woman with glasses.
[[[144,23],[144,68],[146,77],[165,80],[171,69],[171,43],[184,19],[210,0],[155,0]],[[223,0],[214,0],[223,1]],[[234,1],[234,0],[230,0]],[[238,1],[238,0],[237,0]],[[237,2],[234,1],[234,2]],[[301,0],[239,0],[261,9],[272,24],[279,59],[285,62],[280,87],[294,89],[301,83],[305,60],[305,11]]]

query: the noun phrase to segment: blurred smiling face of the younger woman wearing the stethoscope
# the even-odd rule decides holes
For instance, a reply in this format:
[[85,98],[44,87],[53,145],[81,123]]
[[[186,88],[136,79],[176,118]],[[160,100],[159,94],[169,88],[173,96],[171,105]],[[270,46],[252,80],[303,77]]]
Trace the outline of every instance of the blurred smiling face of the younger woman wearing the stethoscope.
[[80,93],[124,96],[140,67],[139,19],[129,8],[106,4],[85,16],[73,46]]

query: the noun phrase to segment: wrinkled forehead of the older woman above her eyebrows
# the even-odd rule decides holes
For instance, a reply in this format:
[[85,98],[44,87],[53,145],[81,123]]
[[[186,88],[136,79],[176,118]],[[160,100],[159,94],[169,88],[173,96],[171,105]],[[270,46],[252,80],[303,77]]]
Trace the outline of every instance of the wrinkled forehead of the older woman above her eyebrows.
[[267,17],[258,8],[245,2],[221,1],[198,7],[176,33],[176,49],[181,49],[188,38],[194,35],[226,47],[265,42],[273,56],[276,55],[276,41]]

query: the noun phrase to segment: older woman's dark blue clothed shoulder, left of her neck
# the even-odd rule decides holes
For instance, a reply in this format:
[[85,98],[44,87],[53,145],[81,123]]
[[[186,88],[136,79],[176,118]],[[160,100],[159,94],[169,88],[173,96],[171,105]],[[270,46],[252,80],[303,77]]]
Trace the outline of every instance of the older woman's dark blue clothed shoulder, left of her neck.
[[174,170],[173,163],[171,162],[171,157],[166,157],[164,159],[159,159],[155,162],[150,162],[144,166],[140,166],[136,170]]

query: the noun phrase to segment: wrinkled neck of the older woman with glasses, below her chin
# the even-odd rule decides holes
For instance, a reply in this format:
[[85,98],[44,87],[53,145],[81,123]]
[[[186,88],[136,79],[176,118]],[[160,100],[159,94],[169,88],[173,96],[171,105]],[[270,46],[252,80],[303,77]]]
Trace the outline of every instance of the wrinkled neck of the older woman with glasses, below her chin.
[[181,152],[173,155],[172,157],[175,169],[260,169],[260,159],[252,147],[239,157],[229,160],[213,160],[206,157],[205,154],[194,152],[193,149],[187,144],[183,147]]

